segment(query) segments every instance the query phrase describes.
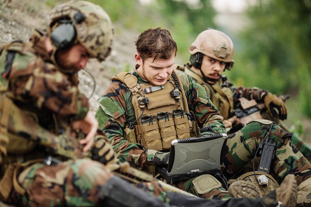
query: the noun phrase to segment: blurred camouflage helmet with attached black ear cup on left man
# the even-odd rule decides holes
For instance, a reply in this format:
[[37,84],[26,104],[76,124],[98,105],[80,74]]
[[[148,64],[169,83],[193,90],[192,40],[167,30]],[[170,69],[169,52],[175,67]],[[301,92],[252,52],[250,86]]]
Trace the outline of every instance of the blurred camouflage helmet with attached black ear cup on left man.
[[113,28],[108,14],[100,6],[72,0],[56,6],[49,16],[48,35],[55,48],[51,58],[54,63],[56,50],[69,48],[76,43],[85,47],[91,57],[99,61],[109,56]]

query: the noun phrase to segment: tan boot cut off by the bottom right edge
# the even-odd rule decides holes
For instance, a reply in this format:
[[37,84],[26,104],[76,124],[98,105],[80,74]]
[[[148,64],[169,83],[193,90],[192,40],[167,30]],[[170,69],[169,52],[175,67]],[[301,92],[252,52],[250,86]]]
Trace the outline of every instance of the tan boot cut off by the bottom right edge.
[[297,206],[311,206],[311,178],[298,185]]

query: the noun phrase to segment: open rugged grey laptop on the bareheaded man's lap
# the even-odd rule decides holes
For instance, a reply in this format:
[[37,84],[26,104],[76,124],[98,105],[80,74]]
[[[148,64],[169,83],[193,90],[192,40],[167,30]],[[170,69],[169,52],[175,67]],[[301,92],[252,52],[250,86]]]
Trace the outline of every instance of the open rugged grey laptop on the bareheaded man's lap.
[[226,134],[215,134],[173,140],[168,168],[156,167],[156,171],[171,184],[202,174],[223,177],[220,167],[224,155],[221,152],[226,138]]

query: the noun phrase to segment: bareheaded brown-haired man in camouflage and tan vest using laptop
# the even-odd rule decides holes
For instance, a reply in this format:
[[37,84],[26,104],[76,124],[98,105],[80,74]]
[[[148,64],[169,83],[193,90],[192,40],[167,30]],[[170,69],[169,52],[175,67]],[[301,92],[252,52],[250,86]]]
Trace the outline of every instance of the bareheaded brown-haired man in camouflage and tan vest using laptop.
[[[128,161],[132,166],[155,173],[155,165],[163,166],[168,162],[170,146],[167,143],[197,133],[195,126],[190,129],[191,124],[201,128],[201,135],[225,133],[225,126],[205,89],[190,76],[173,70],[177,47],[167,30],[144,31],[138,37],[136,47],[137,65],[129,73],[122,72],[112,78],[112,83],[98,100],[100,108],[95,118],[120,161]],[[176,79],[180,79],[178,83]],[[175,90],[180,96],[174,96]],[[187,115],[192,111],[196,121],[186,124],[187,116],[184,121],[174,117],[174,109],[180,108]],[[161,111],[165,112],[166,119],[158,119],[163,115],[159,113]],[[252,160],[271,124],[267,120],[251,122],[228,137],[223,147],[223,173],[226,177],[238,173]],[[289,173],[295,173],[298,183],[311,177],[311,165],[292,145],[289,133],[273,124],[269,137],[276,142],[272,169],[279,181]],[[215,185],[210,186],[211,183]],[[229,198],[220,182],[210,175],[174,185],[200,197]]]

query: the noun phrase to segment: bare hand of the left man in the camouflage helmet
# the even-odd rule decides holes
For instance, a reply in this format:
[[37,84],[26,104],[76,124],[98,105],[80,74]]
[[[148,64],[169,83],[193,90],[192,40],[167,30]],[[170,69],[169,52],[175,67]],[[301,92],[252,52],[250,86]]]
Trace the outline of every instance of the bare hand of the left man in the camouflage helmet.
[[81,130],[86,134],[86,137],[81,139],[79,143],[85,145],[82,149],[84,152],[88,151],[94,142],[94,137],[98,129],[98,121],[92,113],[88,111],[84,119],[72,123],[72,128]]

